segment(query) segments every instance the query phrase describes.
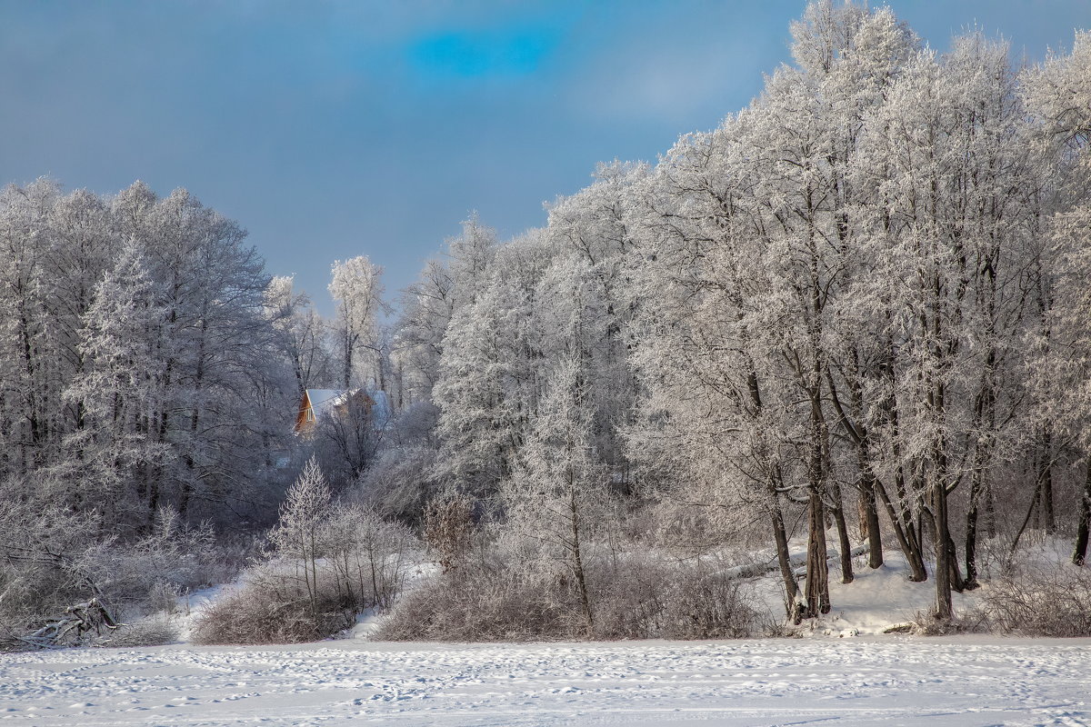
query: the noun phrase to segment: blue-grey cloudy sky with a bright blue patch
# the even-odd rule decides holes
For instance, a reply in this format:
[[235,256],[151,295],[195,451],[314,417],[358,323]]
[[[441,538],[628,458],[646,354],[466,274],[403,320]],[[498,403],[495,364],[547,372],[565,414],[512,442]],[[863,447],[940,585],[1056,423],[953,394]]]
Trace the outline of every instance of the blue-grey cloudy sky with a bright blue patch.
[[[879,4],[873,2],[872,4]],[[1067,48],[1091,0],[891,0],[930,45]],[[476,210],[502,239],[599,161],[655,161],[790,60],[803,0],[0,0],[0,183],[185,187],[319,308],[387,294]]]

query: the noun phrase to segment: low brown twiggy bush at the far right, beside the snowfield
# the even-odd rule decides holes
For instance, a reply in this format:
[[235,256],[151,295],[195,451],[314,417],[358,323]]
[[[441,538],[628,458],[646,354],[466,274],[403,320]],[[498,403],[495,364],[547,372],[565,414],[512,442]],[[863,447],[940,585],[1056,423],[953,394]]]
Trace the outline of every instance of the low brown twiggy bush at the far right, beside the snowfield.
[[1091,571],[1046,566],[992,581],[982,595],[993,630],[1028,637],[1091,635]]

